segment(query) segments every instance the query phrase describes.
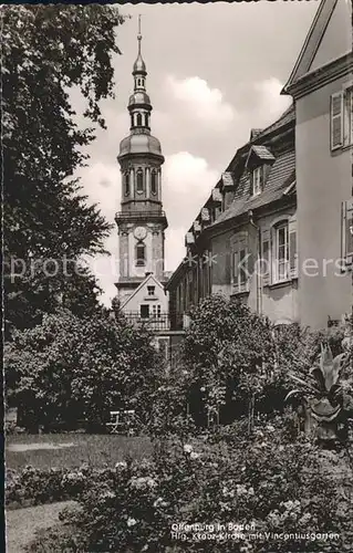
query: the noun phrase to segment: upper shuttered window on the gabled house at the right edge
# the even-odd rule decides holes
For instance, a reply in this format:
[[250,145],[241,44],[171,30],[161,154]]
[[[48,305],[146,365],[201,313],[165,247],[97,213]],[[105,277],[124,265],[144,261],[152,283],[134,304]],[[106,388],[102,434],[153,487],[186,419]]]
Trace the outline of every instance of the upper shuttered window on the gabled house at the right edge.
[[331,96],[331,150],[353,144],[353,87]]

